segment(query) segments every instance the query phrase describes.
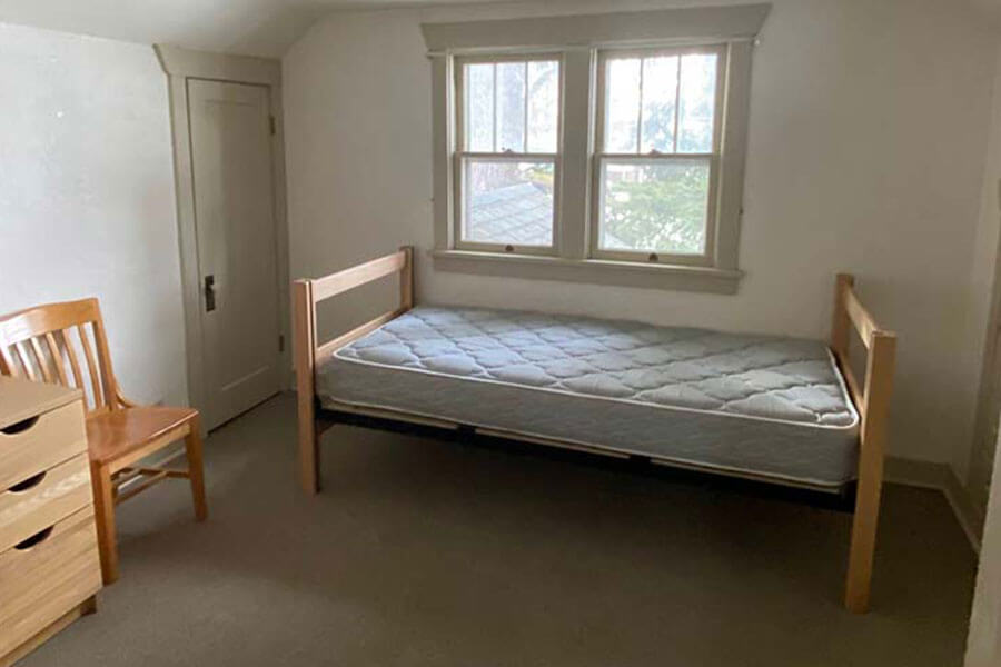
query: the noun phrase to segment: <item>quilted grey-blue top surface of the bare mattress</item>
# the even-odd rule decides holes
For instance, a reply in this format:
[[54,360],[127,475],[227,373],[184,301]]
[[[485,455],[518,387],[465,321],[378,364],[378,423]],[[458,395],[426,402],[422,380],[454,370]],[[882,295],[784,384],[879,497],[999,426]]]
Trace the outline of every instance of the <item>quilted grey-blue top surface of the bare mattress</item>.
[[858,414],[817,340],[418,307],[335,356],[469,380],[825,427]]

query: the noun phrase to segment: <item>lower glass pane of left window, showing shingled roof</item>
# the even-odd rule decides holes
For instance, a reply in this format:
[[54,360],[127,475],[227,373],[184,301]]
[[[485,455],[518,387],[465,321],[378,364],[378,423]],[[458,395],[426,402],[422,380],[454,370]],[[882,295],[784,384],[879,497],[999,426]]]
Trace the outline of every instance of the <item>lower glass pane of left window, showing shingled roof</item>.
[[463,240],[553,245],[553,162],[466,160]]

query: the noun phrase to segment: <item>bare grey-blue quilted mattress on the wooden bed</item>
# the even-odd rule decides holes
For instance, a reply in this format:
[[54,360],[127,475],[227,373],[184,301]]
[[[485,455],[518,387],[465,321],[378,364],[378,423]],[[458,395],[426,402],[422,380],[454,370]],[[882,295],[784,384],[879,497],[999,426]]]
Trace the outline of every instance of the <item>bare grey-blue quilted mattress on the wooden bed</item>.
[[317,360],[326,409],[378,408],[836,490],[859,415],[821,341],[419,307]]

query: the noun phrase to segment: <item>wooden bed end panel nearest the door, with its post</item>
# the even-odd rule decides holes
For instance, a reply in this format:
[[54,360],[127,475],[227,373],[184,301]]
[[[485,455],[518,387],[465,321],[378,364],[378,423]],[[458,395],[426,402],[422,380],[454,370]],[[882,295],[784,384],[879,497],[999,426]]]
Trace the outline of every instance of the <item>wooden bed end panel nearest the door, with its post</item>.
[[[399,273],[399,308],[321,342],[316,331],[320,301]],[[399,317],[414,307],[414,248],[405,246],[386,257],[324,276],[293,282],[293,336],[295,337],[296,392],[299,414],[299,476],[307,494],[319,491],[319,428],[316,414],[316,360]]]

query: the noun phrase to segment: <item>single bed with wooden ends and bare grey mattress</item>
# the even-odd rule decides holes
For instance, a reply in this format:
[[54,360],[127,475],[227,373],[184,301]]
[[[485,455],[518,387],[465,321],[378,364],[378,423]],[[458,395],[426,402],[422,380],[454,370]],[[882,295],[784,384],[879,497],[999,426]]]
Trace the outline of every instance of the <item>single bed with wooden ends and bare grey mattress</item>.
[[[324,345],[316,303],[399,272],[400,307]],[[294,286],[303,486],[337,414],[642,457],[843,492],[856,482],[846,606],[868,607],[893,366],[839,276],[832,341],[413,303],[413,250]],[[848,365],[854,329],[864,382]],[[326,417],[326,418],[325,418]],[[875,419],[875,424],[874,420]]]

